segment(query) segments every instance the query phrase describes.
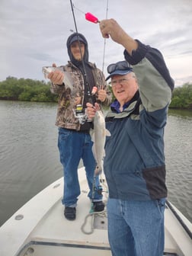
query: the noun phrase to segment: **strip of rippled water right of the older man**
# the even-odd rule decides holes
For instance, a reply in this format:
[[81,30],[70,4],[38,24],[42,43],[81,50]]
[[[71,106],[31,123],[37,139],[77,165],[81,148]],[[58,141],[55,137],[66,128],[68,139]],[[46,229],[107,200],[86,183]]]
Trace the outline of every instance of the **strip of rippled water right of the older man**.
[[192,222],[192,111],[169,110],[165,129],[168,199]]

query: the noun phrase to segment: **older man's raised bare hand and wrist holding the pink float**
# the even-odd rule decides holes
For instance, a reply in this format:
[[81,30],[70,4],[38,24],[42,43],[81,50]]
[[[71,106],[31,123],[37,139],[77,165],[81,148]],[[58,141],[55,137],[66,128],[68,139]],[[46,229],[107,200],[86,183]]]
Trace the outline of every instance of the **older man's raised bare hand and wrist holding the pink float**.
[[104,38],[111,38],[114,42],[120,43],[130,55],[136,50],[138,43],[128,34],[114,19],[103,20],[99,24],[101,34]]

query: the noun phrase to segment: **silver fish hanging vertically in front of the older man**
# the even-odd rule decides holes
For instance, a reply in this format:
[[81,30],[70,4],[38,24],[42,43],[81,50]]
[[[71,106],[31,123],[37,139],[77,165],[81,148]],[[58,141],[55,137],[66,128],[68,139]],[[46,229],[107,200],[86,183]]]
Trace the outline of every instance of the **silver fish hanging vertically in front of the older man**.
[[104,162],[104,144],[106,136],[110,136],[110,131],[105,128],[104,114],[102,110],[98,110],[94,115],[94,128],[90,130],[91,141],[93,142],[92,152],[97,162],[94,175],[101,174]]

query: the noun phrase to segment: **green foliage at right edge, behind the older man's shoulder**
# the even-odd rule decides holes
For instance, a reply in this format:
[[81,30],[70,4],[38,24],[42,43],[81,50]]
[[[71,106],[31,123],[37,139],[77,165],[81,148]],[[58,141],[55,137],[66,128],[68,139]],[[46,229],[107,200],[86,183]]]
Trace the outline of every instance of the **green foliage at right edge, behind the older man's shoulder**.
[[174,88],[170,108],[192,109],[192,84]]

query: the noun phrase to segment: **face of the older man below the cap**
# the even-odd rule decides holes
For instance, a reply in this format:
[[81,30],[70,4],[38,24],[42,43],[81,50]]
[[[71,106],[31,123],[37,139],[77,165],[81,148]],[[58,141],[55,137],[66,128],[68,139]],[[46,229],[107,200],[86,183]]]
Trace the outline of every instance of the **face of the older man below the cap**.
[[136,78],[132,72],[127,75],[113,75],[111,78],[111,86],[114,96],[117,98],[117,101],[120,102],[121,106],[130,101],[138,90]]

